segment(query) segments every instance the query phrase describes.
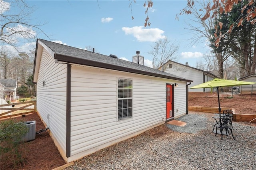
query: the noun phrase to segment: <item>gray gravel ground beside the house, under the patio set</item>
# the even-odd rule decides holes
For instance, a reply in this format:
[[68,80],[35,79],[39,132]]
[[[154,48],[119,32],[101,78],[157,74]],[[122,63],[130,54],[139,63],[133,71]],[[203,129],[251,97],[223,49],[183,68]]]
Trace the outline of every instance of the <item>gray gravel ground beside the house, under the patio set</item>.
[[233,122],[234,137],[212,133],[213,114],[190,112],[74,162],[66,170],[255,170],[256,126]]

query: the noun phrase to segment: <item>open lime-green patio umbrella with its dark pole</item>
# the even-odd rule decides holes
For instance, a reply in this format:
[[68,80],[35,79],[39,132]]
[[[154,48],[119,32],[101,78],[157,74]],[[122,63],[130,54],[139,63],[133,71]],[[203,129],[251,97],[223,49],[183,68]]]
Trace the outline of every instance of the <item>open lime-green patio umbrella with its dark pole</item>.
[[199,85],[195,85],[193,87],[190,87],[190,89],[198,89],[198,88],[211,88],[211,87],[216,87],[217,88],[217,93],[218,93],[218,103],[219,103],[219,113],[221,111],[220,108],[220,96],[219,96],[219,87],[224,87],[224,86],[239,86],[239,85],[250,85],[254,84],[256,82],[248,82],[248,81],[236,81],[236,80],[225,80],[225,79],[218,79],[215,78],[211,81],[208,81],[206,83],[202,83]]

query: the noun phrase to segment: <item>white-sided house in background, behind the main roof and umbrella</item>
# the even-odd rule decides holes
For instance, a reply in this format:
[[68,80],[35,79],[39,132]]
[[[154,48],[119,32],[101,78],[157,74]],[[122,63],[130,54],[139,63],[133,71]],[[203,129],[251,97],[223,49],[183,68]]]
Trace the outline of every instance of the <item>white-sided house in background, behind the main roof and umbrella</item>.
[[[209,71],[204,71],[194,67],[190,67],[188,63],[181,64],[171,60],[167,61],[161,67],[159,67],[159,70],[164,70],[166,73],[184,77],[185,79],[193,80],[190,87],[199,85],[201,83],[205,83],[217,77]],[[210,88],[188,89],[189,92],[206,92],[210,90]]]

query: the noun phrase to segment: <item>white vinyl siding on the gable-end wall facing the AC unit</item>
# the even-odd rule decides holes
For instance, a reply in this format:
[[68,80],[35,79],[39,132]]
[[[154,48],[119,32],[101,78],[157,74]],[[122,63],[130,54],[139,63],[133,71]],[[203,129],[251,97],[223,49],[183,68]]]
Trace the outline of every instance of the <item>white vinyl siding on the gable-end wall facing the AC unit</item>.
[[55,63],[54,57],[43,49],[37,81],[37,111],[46,124],[50,114],[50,131],[65,152],[66,75],[66,64]]

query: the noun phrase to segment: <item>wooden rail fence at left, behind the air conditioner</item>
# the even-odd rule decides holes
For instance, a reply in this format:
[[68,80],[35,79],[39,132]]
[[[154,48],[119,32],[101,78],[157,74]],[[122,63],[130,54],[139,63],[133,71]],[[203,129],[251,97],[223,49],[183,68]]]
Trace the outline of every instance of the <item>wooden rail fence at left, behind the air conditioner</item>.
[[[20,107],[18,107],[20,105]],[[11,106],[11,107],[8,107]],[[34,106],[34,108],[27,108],[30,106]],[[6,112],[0,113],[0,119],[13,117],[18,115],[26,115],[28,113],[36,113],[36,101],[26,101],[26,102],[19,102],[19,103],[10,103],[0,105],[0,110],[5,110]],[[8,111],[10,110],[10,111]]]

